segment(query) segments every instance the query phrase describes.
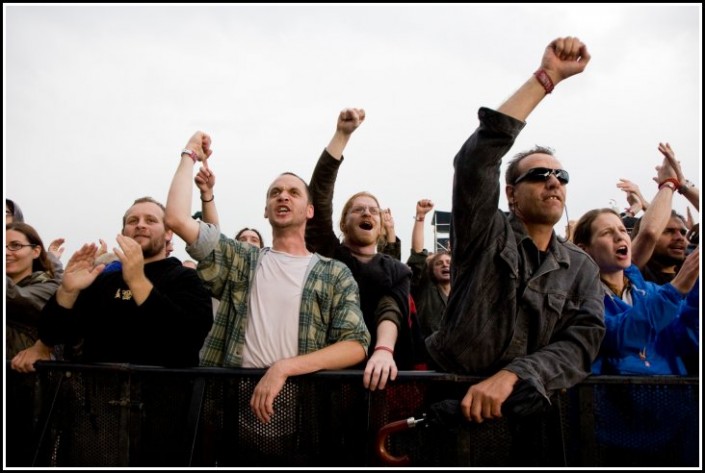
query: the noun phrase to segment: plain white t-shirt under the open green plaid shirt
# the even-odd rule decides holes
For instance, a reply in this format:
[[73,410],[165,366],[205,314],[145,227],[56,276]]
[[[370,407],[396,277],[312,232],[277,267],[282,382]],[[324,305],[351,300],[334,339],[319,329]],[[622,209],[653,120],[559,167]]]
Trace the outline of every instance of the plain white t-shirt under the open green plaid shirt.
[[299,309],[312,256],[268,250],[260,258],[249,296],[243,368],[267,368],[298,355]]

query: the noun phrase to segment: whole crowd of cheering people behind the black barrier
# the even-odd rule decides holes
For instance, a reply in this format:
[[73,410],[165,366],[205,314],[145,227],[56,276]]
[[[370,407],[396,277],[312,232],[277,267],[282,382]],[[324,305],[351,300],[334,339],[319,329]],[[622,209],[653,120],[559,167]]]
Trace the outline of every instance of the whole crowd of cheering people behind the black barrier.
[[[698,226],[672,202],[681,194],[699,211],[700,196],[670,145],[658,146],[651,201],[621,179],[627,211],[591,210],[565,237],[554,227],[570,175],[551,148],[509,161],[509,209],[499,208],[500,166],[527,118],[589,61],[579,39],[557,38],[516,92],[479,110],[453,161],[450,249],[425,248],[434,204],[421,198],[406,263],[373,193],[348,198],[339,234],[333,223],[360,108],[339,113],[310,181],[283,172],[268,187],[271,245],[254,228],[221,231],[212,142],[201,131],[181,153],[166,205],[136,199],[113,253],[88,243],[63,266],[63,240],[45,248],[6,199],[6,358],[20,372],[50,359],[264,368],[250,407],[265,424],[289,377],[320,370],[360,369],[372,391],[399,370],[483,376],[460,402],[478,423],[541,410],[590,374],[697,375]],[[169,257],[174,234],[193,260]]]

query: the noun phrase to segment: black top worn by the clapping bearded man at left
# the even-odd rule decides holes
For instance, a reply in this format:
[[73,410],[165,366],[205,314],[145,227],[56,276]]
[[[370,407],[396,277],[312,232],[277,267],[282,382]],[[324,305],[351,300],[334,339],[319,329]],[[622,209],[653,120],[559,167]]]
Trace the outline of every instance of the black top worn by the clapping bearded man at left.
[[48,345],[82,342],[81,360],[157,366],[198,366],[213,324],[210,294],[196,271],[176,258],[144,265],[154,288],[138,306],[122,270],[103,272],[72,309],[49,299],[39,337]]

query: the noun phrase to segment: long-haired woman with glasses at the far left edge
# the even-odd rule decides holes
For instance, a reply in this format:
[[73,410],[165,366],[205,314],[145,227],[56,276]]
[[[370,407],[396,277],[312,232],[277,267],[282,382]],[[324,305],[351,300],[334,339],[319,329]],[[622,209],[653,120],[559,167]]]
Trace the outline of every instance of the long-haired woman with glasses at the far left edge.
[[5,226],[5,357],[12,359],[38,338],[39,313],[59,287],[42,239],[26,223]]

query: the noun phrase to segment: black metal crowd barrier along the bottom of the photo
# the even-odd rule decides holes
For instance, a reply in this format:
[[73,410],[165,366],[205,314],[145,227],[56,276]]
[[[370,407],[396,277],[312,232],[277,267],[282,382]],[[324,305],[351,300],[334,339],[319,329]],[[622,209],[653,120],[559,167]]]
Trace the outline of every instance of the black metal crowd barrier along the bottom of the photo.
[[[465,422],[481,378],[404,371],[289,379],[272,422],[250,411],[263,370],[6,363],[9,467],[695,467],[699,379],[590,377],[527,418]],[[454,411],[455,410],[455,411]],[[440,413],[440,414],[439,414]]]

